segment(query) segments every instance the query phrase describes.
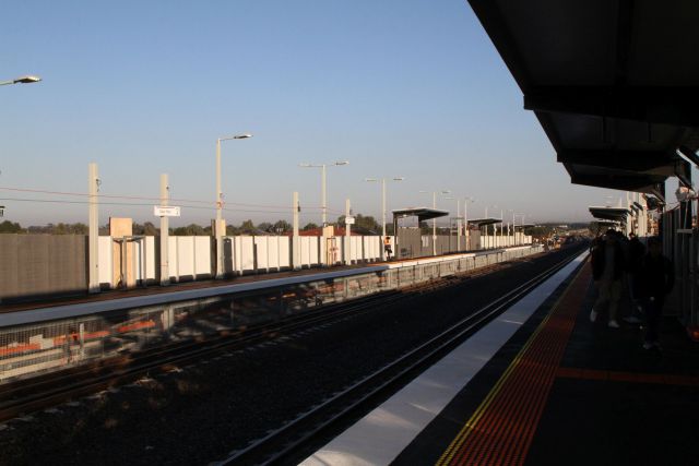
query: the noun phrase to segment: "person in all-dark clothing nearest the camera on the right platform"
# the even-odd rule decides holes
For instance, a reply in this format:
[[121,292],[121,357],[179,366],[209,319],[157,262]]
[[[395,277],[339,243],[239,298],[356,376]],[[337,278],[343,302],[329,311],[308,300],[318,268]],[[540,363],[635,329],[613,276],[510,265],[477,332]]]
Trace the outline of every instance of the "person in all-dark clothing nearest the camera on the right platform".
[[671,260],[663,255],[663,243],[657,237],[648,239],[648,253],[641,260],[638,280],[639,296],[647,321],[643,348],[660,348],[660,318],[663,313],[665,296],[675,285],[675,271]]

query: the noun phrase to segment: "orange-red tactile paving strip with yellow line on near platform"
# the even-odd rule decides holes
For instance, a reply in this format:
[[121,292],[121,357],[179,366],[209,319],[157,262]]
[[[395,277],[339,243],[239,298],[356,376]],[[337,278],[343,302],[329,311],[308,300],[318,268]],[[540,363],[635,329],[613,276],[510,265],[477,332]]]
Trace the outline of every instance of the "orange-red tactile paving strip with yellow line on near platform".
[[522,465],[590,284],[582,266],[437,465]]

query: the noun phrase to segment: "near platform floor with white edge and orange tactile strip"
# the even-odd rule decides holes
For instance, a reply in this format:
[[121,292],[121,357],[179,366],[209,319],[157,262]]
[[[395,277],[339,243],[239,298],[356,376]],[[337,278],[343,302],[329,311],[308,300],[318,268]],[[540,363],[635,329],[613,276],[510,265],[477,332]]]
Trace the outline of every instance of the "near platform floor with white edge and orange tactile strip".
[[643,349],[593,301],[580,256],[304,464],[696,464],[699,346],[667,315]]

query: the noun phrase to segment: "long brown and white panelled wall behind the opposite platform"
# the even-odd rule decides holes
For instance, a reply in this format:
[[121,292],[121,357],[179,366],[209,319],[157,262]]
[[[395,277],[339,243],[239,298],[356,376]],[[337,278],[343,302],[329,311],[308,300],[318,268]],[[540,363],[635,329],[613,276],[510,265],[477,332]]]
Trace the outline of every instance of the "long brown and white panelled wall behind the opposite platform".
[[[394,256],[419,258],[433,255],[431,235],[418,229],[401,229],[399,250]],[[171,282],[205,279],[213,276],[211,237],[168,238],[168,261]],[[531,242],[531,238],[520,238]],[[507,238],[481,238],[472,231],[472,249],[505,247]],[[84,292],[86,277],[86,237],[71,235],[0,235],[0,300]],[[381,259],[379,236],[299,237],[297,268],[343,263],[372,262]],[[461,238],[465,250],[465,238]],[[476,248],[473,248],[473,247]],[[510,244],[511,246],[511,244]],[[437,238],[437,253],[457,251],[457,237]],[[99,283],[103,288],[118,286],[121,270],[121,247],[111,237],[99,237]],[[130,286],[159,283],[159,237],[140,237],[128,242],[125,273]],[[227,275],[244,275],[289,270],[292,238],[286,236],[236,236],[224,238],[224,271]]]

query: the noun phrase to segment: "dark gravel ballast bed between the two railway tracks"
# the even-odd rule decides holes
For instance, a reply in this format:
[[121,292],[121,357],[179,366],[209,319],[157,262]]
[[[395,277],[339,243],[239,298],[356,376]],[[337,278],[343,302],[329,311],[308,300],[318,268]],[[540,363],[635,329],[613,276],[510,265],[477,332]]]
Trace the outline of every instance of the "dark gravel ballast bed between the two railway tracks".
[[197,465],[224,457],[572,250],[0,425],[0,464]]

